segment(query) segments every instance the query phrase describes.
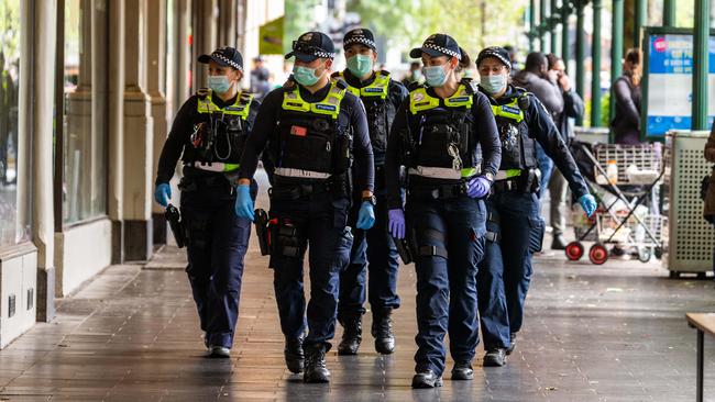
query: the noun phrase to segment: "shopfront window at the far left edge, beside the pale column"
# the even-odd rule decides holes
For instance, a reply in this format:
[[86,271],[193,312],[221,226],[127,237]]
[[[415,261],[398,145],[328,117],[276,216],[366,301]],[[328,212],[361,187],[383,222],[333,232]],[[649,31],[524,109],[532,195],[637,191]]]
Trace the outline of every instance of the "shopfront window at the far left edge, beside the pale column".
[[21,0],[0,0],[0,247],[30,239],[28,133],[20,133]]

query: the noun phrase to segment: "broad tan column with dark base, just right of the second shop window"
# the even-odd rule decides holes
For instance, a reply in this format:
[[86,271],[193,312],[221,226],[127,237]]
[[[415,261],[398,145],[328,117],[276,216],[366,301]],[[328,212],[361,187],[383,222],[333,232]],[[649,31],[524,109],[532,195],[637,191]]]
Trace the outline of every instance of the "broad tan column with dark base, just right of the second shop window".
[[146,93],[147,0],[124,3],[124,257],[152,256],[151,202],[154,131]]

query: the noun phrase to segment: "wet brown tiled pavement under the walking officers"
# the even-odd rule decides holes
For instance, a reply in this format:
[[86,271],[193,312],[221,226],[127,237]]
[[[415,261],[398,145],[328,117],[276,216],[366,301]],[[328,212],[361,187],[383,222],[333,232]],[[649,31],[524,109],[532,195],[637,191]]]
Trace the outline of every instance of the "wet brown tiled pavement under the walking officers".
[[[408,266],[399,278],[396,354],[378,356],[366,334],[356,357],[330,351],[330,384],[304,384],[285,369],[272,276],[255,244],[230,360],[202,357],[188,283],[176,269],[182,259],[169,247],[150,269],[111,267],[62,300],[54,322],[0,351],[0,401],[692,401],[695,331],[684,313],[715,310],[711,281],[670,280],[656,264],[541,258],[508,365],[477,362],[474,381],[451,382],[448,372],[441,389],[411,390],[415,272]],[[706,338],[710,400],[714,345]]]

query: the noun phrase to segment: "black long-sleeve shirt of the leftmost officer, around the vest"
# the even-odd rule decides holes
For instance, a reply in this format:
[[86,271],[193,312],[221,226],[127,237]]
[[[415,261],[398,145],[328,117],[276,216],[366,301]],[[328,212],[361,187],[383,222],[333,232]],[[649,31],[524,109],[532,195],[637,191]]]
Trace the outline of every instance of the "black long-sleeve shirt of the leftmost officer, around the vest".
[[[237,97],[223,101],[218,96],[212,97],[213,103],[223,109],[227,105],[235,103]],[[176,113],[174,118],[174,123],[172,124],[172,131],[168,133],[168,137],[164,143],[162,148],[162,155],[158,159],[158,168],[156,171],[156,185],[168,182],[174,176],[174,169],[176,168],[176,163],[179,157],[185,163],[191,163],[199,160],[196,149],[191,145],[190,137],[194,133],[194,125],[200,122],[206,121],[207,114],[199,113],[198,105],[198,94],[191,96],[182,109]],[[258,107],[261,102],[253,100],[249,109],[249,116],[246,119],[246,130],[251,133],[253,122],[255,120],[256,113],[258,112]],[[198,175],[216,175],[210,171],[197,170]]]

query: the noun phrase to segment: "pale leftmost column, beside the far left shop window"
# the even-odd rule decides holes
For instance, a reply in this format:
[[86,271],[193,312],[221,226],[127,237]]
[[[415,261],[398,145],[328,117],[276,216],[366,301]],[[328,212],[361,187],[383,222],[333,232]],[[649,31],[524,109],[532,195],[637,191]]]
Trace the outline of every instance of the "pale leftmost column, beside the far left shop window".
[[32,148],[32,237],[37,247],[37,321],[55,316],[53,116],[57,7],[54,1],[35,2]]

